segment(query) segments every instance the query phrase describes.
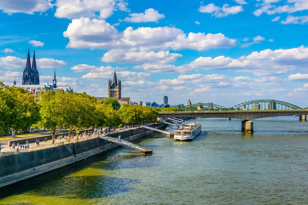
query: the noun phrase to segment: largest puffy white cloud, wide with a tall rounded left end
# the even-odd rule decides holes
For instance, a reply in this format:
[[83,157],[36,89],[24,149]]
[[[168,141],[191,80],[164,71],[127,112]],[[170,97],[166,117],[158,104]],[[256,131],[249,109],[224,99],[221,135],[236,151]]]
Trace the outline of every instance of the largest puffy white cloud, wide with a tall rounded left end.
[[105,20],[87,17],[73,19],[63,35],[69,38],[69,48],[206,50],[230,48],[237,43],[236,39],[227,38],[221,33],[189,32],[186,35],[181,29],[171,27],[127,27],[119,32]]

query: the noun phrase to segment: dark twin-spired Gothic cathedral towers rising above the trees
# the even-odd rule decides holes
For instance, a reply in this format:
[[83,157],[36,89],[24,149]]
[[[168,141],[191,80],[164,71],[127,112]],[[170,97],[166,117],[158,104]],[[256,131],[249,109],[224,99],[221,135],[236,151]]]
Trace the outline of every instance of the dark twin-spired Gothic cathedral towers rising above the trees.
[[30,50],[28,49],[27,63],[24,68],[22,85],[40,85],[40,76],[36,68],[35,51],[32,59],[32,67],[30,62]]

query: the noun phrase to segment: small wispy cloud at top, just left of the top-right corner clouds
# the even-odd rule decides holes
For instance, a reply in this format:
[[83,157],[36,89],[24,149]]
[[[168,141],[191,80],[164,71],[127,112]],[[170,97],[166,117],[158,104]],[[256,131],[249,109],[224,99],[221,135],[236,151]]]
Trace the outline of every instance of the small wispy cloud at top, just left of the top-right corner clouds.
[[216,17],[226,17],[230,14],[237,14],[241,11],[244,11],[244,9],[242,6],[229,7],[228,4],[224,4],[222,7],[218,7],[212,3],[205,6],[200,6],[198,11],[201,13],[211,13],[212,16]]

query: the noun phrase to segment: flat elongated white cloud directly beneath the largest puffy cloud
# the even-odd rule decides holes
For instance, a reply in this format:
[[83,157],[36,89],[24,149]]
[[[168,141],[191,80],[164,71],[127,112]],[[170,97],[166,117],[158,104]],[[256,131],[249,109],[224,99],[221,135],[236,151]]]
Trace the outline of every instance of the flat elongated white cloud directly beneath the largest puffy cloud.
[[131,64],[152,62],[166,64],[175,61],[179,57],[182,57],[182,55],[178,53],[170,53],[169,51],[132,52],[121,49],[111,49],[109,52],[104,54],[102,61]]

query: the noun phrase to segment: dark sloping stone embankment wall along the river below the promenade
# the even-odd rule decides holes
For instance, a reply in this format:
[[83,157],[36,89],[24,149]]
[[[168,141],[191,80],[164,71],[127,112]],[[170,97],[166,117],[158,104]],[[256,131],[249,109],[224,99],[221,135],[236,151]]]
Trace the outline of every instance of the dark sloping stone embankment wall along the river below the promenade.
[[[156,124],[151,127],[165,126],[165,124]],[[144,128],[137,128],[108,136],[121,135],[122,139],[131,141],[140,139],[151,132]],[[92,138],[33,152],[0,156],[0,188],[70,165],[117,146],[118,144],[100,138]]]

